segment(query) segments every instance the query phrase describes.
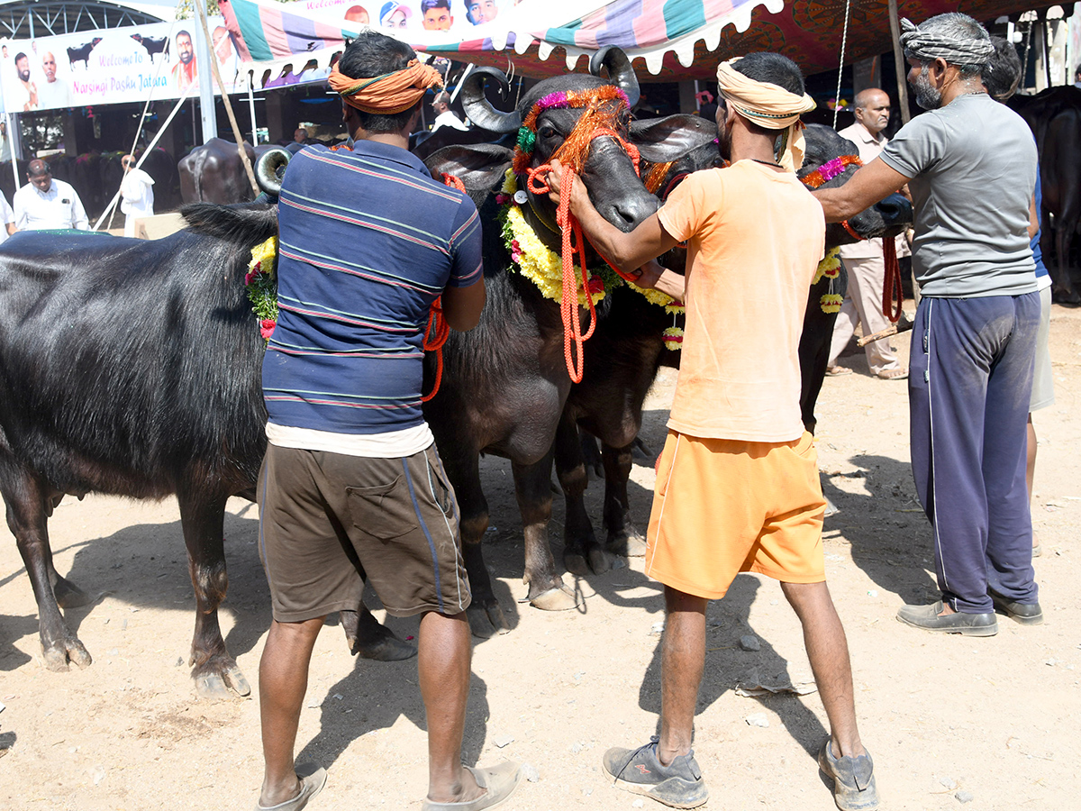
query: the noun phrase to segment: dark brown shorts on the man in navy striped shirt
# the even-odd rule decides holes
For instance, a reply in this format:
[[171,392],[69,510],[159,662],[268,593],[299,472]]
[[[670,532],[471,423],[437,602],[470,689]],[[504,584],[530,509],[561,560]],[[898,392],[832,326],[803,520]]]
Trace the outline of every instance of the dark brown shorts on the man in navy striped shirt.
[[403,458],[270,444],[257,495],[278,622],[356,611],[365,577],[395,616],[469,606],[458,504],[435,444]]

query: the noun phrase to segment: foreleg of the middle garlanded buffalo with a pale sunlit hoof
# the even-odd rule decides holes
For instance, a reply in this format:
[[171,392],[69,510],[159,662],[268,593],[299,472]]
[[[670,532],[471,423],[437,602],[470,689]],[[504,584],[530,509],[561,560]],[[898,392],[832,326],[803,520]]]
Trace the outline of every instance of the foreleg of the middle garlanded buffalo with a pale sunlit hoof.
[[530,604],[545,611],[563,611],[578,602],[556,572],[556,561],[548,544],[548,521],[551,519],[551,462],[549,450],[532,465],[512,463],[515,495],[522,514],[525,534],[525,572],[522,580],[529,586]]

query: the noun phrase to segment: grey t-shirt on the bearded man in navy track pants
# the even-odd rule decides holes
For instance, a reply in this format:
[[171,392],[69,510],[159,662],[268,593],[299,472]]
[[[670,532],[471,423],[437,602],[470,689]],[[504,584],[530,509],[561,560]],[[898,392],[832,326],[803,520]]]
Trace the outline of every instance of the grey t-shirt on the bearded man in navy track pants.
[[1020,116],[986,93],[959,96],[905,124],[881,158],[912,178],[912,269],[922,295],[1036,290],[1027,229],[1037,156]]

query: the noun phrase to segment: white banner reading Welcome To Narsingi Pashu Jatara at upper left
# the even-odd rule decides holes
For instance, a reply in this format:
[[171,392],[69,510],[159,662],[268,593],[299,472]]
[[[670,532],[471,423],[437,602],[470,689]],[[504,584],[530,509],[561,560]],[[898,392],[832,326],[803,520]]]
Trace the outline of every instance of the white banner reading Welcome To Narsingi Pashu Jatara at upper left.
[[[246,74],[222,17],[209,17],[222,80],[246,89]],[[196,53],[198,21],[151,23],[36,39],[0,39],[0,87],[8,112],[198,96],[214,82]],[[214,92],[217,93],[215,84]]]

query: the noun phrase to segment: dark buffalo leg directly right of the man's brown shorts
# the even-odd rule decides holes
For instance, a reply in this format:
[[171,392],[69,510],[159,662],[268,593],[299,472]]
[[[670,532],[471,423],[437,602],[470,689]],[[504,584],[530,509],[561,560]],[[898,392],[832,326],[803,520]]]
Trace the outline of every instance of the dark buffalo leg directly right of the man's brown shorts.
[[[444,443],[444,447],[454,446]],[[472,452],[459,457],[459,454],[449,453],[441,458],[446,477],[454,486],[461,515],[458,527],[462,532],[462,560],[469,575],[469,591],[472,595],[466,616],[473,636],[486,639],[509,630],[510,626],[499,608],[499,601],[495,599],[492,577],[488,573],[481,548],[488,530],[489,514],[488,500],[480,486],[480,454]]]

